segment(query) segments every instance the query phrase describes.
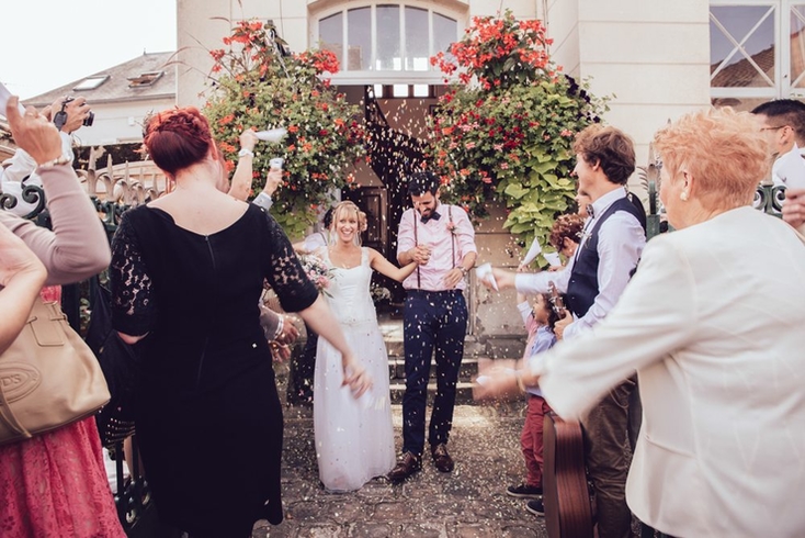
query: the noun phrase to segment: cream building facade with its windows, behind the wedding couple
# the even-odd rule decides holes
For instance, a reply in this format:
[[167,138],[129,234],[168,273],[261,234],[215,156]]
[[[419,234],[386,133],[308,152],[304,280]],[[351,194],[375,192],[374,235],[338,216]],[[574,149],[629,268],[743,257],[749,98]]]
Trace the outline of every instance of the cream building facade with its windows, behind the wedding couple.
[[[565,72],[589,79],[593,94],[610,97],[605,122],[628,133],[637,160],[648,164],[654,133],[687,112],[730,104],[741,110],[764,100],[805,93],[805,2],[795,0],[178,0],[179,104],[202,104],[212,60],[229,21],[272,20],[294,52],[321,46],[335,52],[340,91],[373,107],[388,125],[418,137],[436,102],[442,76],[428,58],[463,35],[473,16],[511,10],[542,19],[552,58]],[[365,99],[364,99],[365,100]],[[393,178],[365,167],[359,182],[375,204],[374,228],[394,258],[397,214],[387,189]],[[639,183],[637,176],[635,183]],[[633,190],[645,195],[639,184]],[[480,260],[514,266],[519,248],[500,227],[499,212],[479,226]],[[387,224],[384,224],[387,223]],[[383,248],[385,246],[385,248]],[[513,296],[470,287],[473,333],[520,329]]]

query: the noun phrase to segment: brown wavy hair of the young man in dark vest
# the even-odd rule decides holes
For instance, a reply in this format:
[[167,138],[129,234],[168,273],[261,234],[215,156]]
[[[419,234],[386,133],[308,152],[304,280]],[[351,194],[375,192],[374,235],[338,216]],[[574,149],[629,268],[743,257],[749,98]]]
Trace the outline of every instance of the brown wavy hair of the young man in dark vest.
[[598,164],[613,183],[626,184],[635,171],[634,142],[619,128],[593,123],[576,135],[572,150],[587,164]]

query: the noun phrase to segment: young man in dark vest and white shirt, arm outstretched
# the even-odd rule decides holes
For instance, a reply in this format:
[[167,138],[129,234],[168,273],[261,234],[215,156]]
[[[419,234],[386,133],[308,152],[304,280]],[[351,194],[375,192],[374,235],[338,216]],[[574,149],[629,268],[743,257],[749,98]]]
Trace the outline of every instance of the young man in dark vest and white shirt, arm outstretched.
[[[572,313],[557,323],[555,332],[557,338],[568,339],[593,327],[612,310],[646,244],[640,212],[626,195],[626,182],[635,170],[632,139],[617,128],[591,125],[576,136],[574,150],[579,192],[592,201],[574,257],[557,272],[494,270],[500,289],[517,288],[520,293],[545,293],[554,282]],[[624,381],[582,421],[600,538],[631,536],[625,485],[631,459],[628,400],[634,388],[634,381]],[[543,514],[542,501],[531,501],[528,506]]]

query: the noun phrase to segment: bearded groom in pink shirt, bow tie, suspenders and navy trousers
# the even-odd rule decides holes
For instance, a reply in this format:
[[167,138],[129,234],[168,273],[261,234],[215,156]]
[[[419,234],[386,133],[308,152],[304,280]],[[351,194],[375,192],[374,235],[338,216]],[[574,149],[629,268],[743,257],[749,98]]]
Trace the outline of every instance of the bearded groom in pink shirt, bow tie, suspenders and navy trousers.
[[457,205],[439,202],[439,178],[417,172],[408,179],[413,209],[402,213],[397,261],[418,264],[402,287],[407,290],[404,340],[406,392],[402,396],[402,457],[388,474],[399,482],[422,467],[424,412],[433,350],[436,362],[436,395],[428,441],[436,469],[453,470],[447,437],[453,424],[458,369],[467,333],[467,305],[463,290],[475,265],[475,231],[467,213]]

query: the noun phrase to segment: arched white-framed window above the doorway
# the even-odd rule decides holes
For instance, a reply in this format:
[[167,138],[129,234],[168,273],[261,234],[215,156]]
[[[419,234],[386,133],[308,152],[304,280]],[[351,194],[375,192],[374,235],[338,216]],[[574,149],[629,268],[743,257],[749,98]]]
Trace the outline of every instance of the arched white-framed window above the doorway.
[[458,21],[421,5],[377,3],[320,19],[318,40],[344,71],[433,71],[430,57],[458,41]]

